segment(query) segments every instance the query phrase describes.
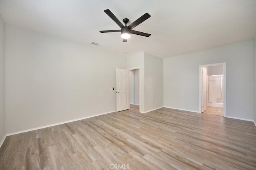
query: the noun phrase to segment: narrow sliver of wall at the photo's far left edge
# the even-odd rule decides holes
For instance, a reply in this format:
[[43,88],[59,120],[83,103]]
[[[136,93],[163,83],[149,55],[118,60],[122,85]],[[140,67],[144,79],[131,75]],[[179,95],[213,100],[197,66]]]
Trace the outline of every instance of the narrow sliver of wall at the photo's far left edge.
[[5,133],[5,24],[0,16],[0,142]]

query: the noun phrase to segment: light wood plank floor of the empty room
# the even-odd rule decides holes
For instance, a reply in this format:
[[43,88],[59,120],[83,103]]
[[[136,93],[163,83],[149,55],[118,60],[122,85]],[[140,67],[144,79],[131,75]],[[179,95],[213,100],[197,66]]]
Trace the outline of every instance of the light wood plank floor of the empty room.
[[167,108],[141,114],[133,106],[8,136],[0,148],[1,170],[110,169],[111,164],[131,170],[256,169],[256,127]]

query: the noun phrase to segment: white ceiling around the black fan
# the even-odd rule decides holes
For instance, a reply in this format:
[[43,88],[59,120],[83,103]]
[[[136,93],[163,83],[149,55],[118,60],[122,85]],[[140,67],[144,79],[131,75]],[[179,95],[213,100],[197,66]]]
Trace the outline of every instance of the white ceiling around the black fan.
[[[152,35],[132,34],[123,43],[119,32],[100,33],[120,29],[106,9],[121,22],[128,18],[128,25],[148,12],[151,18],[134,30]],[[256,0],[0,0],[0,14],[6,24],[84,45],[102,43],[124,56],[145,51],[165,58],[256,38]]]

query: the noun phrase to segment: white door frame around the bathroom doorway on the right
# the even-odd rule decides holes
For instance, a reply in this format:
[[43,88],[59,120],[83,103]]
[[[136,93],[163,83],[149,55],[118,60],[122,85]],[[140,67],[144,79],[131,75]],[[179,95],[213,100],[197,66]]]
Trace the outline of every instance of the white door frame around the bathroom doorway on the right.
[[226,117],[226,63],[214,63],[199,65],[199,113],[202,113],[202,67],[223,65],[224,75],[224,100],[223,100],[223,117]]

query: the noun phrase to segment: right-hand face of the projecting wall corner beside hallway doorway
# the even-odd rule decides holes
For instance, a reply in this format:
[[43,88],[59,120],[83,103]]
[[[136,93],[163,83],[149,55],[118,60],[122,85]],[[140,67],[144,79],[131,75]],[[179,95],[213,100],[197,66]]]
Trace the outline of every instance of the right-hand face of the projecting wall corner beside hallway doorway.
[[163,59],[144,53],[145,111],[163,107]]

